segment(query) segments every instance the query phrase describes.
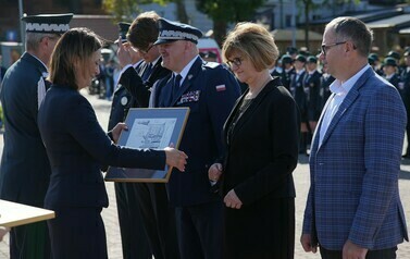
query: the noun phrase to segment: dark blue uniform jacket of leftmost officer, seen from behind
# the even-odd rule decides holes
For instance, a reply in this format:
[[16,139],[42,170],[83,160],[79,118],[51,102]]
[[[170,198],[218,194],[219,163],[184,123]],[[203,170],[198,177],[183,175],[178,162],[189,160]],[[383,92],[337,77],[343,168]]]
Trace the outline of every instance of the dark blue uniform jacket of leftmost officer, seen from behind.
[[25,52],[7,72],[1,89],[4,147],[0,169],[0,198],[42,206],[50,163],[37,126],[38,103],[48,83],[47,67]]

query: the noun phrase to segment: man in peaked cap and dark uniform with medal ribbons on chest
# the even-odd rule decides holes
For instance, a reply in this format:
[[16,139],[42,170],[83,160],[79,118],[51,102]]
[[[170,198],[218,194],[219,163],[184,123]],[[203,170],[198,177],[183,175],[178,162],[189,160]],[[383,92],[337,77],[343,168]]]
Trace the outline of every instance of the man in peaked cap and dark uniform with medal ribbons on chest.
[[208,169],[222,156],[222,126],[240,95],[239,86],[225,66],[199,57],[198,28],[165,18],[159,27],[154,45],[173,74],[153,86],[150,106],[190,108],[179,146],[189,156],[186,171],[174,169],[167,184],[181,256],[219,259],[222,200],[210,192]]

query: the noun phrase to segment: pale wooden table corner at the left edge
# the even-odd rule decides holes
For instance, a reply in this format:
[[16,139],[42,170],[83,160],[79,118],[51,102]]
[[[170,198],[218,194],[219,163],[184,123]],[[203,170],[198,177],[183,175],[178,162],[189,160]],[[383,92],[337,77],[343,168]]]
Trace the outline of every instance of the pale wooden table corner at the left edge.
[[17,226],[53,219],[54,211],[0,199],[0,226]]

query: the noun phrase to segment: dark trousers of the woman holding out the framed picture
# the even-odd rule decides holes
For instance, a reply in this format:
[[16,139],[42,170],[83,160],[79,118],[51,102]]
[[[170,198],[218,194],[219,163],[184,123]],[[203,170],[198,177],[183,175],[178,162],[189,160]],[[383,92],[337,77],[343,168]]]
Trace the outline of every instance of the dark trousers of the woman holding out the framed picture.
[[107,239],[101,208],[54,209],[49,220],[52,258],[107,259]]

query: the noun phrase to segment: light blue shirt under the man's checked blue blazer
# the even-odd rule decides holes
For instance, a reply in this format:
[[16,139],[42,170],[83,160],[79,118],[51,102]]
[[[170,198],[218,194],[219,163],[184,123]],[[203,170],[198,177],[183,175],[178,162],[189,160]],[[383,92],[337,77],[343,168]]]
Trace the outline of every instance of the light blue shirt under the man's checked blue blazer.
[[330,86],[330,89],[334,95],[331,100],[331,103],[327,106],[327,109],[322,120],[319,135],[319,147],[322,146],[323,137],[326,134],[328,125],[331,125],[331,122],[334,115],[336,114],[337,110],[339,109],[341,102],[345,100],[347,94],[349,94],[350,89],[353,87],[356,82],[368,69],[370,69],[369,64],[366,64],[363,69],[361,69],[358,73],[356,73],[345,83],[341,83],[339,79],[335,79]]

